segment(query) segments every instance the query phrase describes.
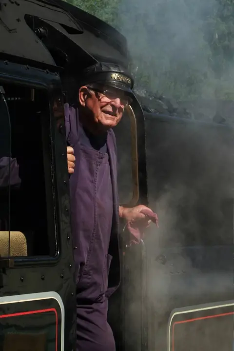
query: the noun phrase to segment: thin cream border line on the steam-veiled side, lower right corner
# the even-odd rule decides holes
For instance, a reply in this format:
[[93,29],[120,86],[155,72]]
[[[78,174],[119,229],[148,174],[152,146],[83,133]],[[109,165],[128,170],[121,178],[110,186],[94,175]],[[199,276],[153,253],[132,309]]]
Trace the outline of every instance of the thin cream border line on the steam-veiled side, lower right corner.
[[[175,309],[171,312],[170,319],[169,319],[169,325],[168,325],[168,351],[170,351],[170,345],[171,345],[171,327],[172,327],[172,321],[173,318],[182,313],[191,313],[191,312],[197,312],[197,311],[204,311],[204,310],[213,310],[213,309],[219,309],[222,307],[230,307],[234,306],[234,300],[231,301],[224,301],[224,302],[216,302],[216,303],[211,303],[211,304],[204,304],[204,305],[197,305],[197,306],[190,306],[190,307],[184,307],[181,309]],[[189,310],[188,310],[189,308]]]

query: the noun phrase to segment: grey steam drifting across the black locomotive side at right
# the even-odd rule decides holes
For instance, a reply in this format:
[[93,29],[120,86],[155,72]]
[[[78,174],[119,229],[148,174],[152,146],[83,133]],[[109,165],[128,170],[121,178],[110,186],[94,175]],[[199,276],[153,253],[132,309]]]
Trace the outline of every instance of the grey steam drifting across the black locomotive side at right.
[[[158,214],[159,229],[152,225],[146,232],[148,291],[143,309],[148,308],[149,350],[165,350],[172,310],[233,298],[234,139],[226,126],[178,123],[151,114],[145,114],[145,127],[149,206]],[[119,130],[120,160],[127,135],[125,128]],[[126,164],[124,156],[120,167],[121,189],[126,170],[131,173],[130,160]],[[142,322],[142,261],[137,249],[127,255],[123,287],[128,289],[128,350],[138,350]],[[222,326],[228,332],[229,322]],[[201,332],[200,325],[197,328],[195,332]],[[185,331],[179,337],[186,346]],[[207,338],[203,344],[197,338],[195,347],[206,350]],[[230,340],[225,340],[223,350],[228,350]]]

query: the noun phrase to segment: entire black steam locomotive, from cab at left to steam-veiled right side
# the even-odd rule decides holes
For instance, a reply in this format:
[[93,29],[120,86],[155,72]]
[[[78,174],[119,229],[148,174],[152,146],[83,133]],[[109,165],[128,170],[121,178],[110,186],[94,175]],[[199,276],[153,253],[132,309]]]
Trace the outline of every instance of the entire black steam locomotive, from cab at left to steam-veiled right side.
[[[126,66],[126,41],[60,0],[9,1],[0,20],[0,349],[75,350],[63,104],[85,66]],[[124,113],[120,204],[149,203],[159,229],[131,247],[120,235],[117,350],[233,350],[234,130],[143,113],[137,98]]]

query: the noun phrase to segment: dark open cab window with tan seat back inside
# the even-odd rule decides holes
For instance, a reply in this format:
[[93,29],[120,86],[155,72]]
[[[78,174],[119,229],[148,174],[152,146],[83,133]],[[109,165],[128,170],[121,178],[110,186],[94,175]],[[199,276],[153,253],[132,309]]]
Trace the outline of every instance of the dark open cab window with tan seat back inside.
[[55,256],[49,99],[39,89],[2,87],[0,254]]

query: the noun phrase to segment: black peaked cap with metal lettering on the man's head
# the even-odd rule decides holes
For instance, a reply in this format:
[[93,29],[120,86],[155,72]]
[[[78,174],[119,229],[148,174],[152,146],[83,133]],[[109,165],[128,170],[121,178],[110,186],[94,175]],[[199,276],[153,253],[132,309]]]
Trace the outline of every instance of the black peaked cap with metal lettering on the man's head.
[[116,63],[98,62],[82,71],[81,85],[99,83],[132,94],[134,81],[125,68]]

